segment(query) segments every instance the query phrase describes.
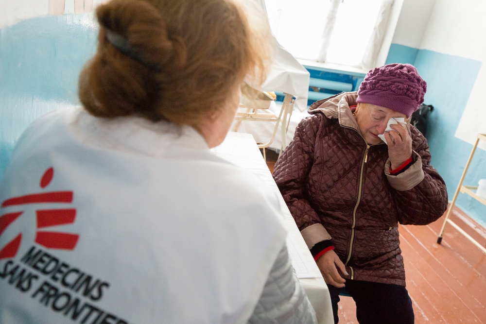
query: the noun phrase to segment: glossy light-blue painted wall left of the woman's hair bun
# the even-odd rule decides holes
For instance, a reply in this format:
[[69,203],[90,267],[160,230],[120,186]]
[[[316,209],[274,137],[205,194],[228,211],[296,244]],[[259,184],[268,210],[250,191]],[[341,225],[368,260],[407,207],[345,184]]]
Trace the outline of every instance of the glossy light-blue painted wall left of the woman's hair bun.
[[0,178],[37,117],[78,104],[81,68],[96,50],[91,14],[37,17],[0,29]]

